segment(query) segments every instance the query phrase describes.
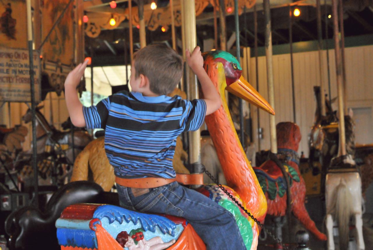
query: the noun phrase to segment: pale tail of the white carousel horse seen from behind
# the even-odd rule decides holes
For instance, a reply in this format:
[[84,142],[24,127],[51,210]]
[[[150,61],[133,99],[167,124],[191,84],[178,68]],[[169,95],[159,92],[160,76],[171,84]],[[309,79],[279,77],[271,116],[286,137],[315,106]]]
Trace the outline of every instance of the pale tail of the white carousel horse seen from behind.
[[351,201],[352,195],[346,185],[346,181],[342,178],[336,188],[335,199],[330,211],[335,214],[338,222],[339,246],[341,250],[348,249],[350,216],[354,211]]

